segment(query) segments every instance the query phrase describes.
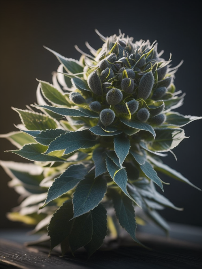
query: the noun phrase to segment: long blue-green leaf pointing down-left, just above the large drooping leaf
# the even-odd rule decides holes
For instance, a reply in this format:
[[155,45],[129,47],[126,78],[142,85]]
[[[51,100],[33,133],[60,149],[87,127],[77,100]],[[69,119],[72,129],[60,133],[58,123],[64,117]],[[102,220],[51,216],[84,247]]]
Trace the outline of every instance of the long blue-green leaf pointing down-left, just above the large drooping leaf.
[[47,198],[43,207],[50,203],[50,201],[72,190],[87,174],[88,171],[84,165],[70,165],[63,174],[54,180],[53,185],[48,189]]

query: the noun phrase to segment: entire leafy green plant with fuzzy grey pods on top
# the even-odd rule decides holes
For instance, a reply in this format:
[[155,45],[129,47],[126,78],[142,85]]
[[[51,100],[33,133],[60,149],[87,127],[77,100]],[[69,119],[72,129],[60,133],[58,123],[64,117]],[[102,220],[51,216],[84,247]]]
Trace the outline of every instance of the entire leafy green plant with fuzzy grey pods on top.
[[38,80],[37,103],[13,108],[22,124],[1,135],[31,161],[1,161],[22,196],[8,217],[48,230],[50,252],[61,244],[62,255],[84,246],[90,257],[116,221],[141,244],[136,207],[168,232],[157,209],[182,209],[156,191],[166,184],[158,172],[196,187],[161,160],[185,138],[181,127],[202,118],[173,111],[184,99],[174,86],[179,66],[156,42],[96,33],[102,48],[86,43],[93,56],[79,50],[79,61],[46,47],[60,62],[53,84]]

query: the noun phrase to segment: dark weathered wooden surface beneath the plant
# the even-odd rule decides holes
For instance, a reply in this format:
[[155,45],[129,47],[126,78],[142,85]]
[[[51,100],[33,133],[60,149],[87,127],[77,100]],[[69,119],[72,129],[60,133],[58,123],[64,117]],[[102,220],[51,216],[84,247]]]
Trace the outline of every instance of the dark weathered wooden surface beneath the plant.
[[[198,227],[181,227],[174,238],[156,234],[156,230],[137,234],[138,239],[151,247],[140,247],[130,237],[124,235],[119,241],[105,241],[103,246],[87,260],[84,249],[75,252],[75,257],[61,257],[57,249],[48,258],[48,249],[43,246],[25,246],[23,231],[11,233],[13,240],[5,231],[0,231],[0,268],[22,269],[101,269],[101,268],[137,268],[137,269],[201,269],[202,268],[202,229]],[[194,229],[195,228],[195,229]],[[177,227],[180,230],[180,226]],[[176,229],[176,230],[177,230]],[[14,236],[14,234],[16,236]],[[9,239],[6,239],[9,238]],[[15,241],[14,241],[15,240]],[[19,242],[17,242],[19,241]]]

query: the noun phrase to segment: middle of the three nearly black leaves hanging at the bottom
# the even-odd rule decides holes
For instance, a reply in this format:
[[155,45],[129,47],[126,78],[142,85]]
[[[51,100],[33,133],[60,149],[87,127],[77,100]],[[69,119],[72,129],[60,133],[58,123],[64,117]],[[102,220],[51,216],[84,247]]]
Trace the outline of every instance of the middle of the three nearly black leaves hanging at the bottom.
[[72,253],[82,246],[87,245],[93,236],[93,221],[91,213],[86,213],[75,218],[74,226],[69,235],[69,245]]

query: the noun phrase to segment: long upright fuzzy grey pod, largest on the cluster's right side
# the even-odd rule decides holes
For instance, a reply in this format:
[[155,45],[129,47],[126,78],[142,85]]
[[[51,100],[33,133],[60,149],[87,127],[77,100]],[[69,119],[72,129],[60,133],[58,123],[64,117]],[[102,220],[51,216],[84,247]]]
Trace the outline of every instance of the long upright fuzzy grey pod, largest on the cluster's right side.
[[138,97],[146,100],[151,94],[153,85],[154,85],[154,76],[150,71],[144,74],[140,79],[138,86]]

